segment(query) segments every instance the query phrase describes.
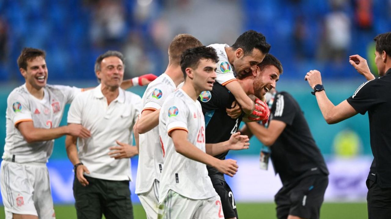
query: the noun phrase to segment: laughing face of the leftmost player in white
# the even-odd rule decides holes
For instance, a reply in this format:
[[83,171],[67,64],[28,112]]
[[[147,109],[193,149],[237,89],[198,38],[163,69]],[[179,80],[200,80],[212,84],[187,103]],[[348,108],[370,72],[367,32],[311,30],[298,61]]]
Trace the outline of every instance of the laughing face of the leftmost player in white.
[[43,57],[38,56],[32,60],[27,60],[26,69],[20,68],[19,70],[22,73],[22,76],[26,79],[26,83],[28,83],[31,87],[36,90],[40,90],[45,87],[48,77],[48,69]]

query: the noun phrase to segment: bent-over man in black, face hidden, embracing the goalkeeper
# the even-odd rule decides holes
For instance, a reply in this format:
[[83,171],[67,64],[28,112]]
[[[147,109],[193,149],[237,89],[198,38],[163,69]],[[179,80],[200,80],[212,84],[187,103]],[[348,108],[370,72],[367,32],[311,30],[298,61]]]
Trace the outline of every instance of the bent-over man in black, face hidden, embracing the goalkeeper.
[[[274,196],[278,219],[318,219],[328,185],[328,170],[296,100],[287,92],[271,90],[267,128],[255,122],[243,127],[270,147],[274,171],[283,187]],[[252,133],[251,133],[252,132]]]

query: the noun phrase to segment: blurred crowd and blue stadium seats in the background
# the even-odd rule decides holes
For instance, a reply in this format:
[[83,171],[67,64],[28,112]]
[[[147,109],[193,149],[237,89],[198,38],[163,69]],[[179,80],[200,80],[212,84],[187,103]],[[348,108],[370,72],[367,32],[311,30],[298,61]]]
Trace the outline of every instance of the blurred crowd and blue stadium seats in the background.
[[24,47],[47,52],[50,80],[94,79],[95,58],[108,49],[126,57],[126,76],[161,74],[174,35],[205,45],[232,44],[262,32],[284,77],[310,69],[325,78],[355,78],[348,56],[373,61],[373,37],[391,29],[391,0],[0,0],[0,81],[22,81]]

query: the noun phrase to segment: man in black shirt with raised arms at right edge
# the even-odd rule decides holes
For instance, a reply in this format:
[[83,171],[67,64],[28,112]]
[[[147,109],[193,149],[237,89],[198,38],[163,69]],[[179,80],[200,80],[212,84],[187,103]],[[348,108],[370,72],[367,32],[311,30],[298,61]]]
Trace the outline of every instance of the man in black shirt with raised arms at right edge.
[[350,64],[367,79],[354,94],[337,106],[327,98],[320,72],[307,72],[305,80],[314,89],[319,108],[328,124],[335,124],[357,113],[368,111],[373,162],[367,179],[368,218],[385,219],[391,215],[391,32],[375,37],[375,63],[380,75],[373,79],[366,60],[350,57]]

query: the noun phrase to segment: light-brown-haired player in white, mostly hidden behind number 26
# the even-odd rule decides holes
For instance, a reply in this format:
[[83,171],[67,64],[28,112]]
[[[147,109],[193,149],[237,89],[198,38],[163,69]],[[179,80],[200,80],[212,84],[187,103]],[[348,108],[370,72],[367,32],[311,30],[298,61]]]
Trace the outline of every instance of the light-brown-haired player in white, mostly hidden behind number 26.
[[[202,46],[189,34],[179,34],[169,46],[169,64],[166,71],[150,83],[142,98],[142,112],[136,130],[140,133],[136,194],[148,219],[158,217],[160,174],[163,170],[163,152],[159,138],[159,113],[165,99],[183,82],[181,55],[188,48]],[[143,134],[145,133],[145,134]]]

